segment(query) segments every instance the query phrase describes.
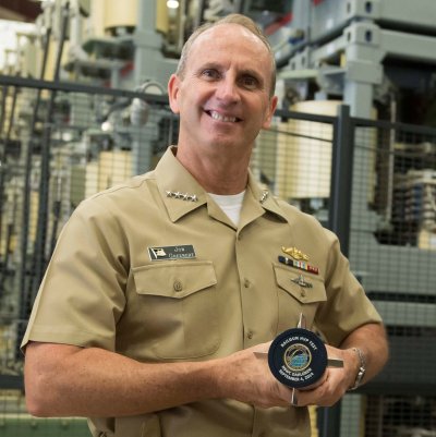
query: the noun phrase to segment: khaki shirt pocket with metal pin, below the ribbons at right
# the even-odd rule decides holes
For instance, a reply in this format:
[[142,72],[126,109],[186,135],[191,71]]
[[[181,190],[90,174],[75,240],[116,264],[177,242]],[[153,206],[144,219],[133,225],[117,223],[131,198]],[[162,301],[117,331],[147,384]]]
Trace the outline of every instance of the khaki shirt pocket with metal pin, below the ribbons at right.
[[279,301],[278,332],[294,328],[303,314],[311,329],[318,306],[327,301],[323,277],[292,267],[274,266]]

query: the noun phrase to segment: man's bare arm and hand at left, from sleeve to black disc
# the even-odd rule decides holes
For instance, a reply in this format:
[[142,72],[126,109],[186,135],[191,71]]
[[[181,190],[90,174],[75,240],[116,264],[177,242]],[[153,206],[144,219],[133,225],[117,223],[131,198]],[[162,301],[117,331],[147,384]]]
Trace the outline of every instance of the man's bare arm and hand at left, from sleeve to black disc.
[[262,408],[288,406],[264,354],[269,343],[226,357],[140,363],[101,349],[31,343],[26,350],[28,411],[38,416],[123,416],[230,398]]

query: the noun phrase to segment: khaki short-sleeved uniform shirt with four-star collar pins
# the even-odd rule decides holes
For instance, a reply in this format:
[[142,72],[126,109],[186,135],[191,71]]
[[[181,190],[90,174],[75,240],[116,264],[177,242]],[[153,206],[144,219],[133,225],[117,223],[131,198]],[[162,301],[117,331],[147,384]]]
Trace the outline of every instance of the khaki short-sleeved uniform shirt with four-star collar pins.
[[[282,246],[306,254],[318,272],[279,263]],[[312,288],[292,281],[300,275]],[[380,321],[338,240],[313,217],[250,175],[235,228],[169,149],[155,171],[75,209],[22,345],[97,347],[140,362],[210,360],[274,339],[300,313],[334,345]],[[310,436],[305,408],[234,400],[90,423],[95,436]]]

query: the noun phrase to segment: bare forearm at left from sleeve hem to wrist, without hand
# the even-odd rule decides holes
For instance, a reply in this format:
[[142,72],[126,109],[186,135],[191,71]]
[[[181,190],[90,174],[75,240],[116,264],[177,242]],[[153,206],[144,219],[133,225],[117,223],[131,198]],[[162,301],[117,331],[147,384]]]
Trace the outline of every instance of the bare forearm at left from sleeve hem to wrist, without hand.
[[32,343],[26,355],[26,401],[34,415],[135,415],[219,394],[218,362],[149,364],[101,349],[46,343]]

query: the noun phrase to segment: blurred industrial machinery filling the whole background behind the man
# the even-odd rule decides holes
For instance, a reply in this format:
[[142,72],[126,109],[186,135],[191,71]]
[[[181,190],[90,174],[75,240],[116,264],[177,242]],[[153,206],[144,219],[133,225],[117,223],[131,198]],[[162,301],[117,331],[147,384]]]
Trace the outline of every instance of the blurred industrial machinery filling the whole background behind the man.
[[366,400],[379,420],[366,436],[380,435],[373,426],[431,435],[432,421],[396,427],[390,412],[401,402],[436,410],[434,0],[45,2],[0,64],[1,373],[20,375],[16,345],[62,224],[83,198],[148,170],[175,141],[166,84],[182,46],[232,12],[259,24],[278,66],[280,110],[257,139],[254,174],[326,223],[332,121],[350,108],[348,255],[385,319],[392,360],[365,392],[346,396],[341,435],[361,435]]

